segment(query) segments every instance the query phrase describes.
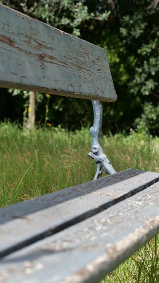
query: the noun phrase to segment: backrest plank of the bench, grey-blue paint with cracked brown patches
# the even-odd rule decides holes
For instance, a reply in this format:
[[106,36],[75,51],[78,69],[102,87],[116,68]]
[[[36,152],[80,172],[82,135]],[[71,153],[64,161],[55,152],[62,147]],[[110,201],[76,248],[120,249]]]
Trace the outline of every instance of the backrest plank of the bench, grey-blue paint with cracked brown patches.
[[103,48],[0,5],[0,87],[115,101]]

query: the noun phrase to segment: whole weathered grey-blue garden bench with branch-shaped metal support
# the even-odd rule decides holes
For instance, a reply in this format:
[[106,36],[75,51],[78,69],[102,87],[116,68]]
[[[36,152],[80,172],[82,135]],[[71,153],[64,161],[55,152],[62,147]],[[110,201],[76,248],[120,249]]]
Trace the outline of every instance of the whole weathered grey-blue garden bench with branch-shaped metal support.
[[105,50],[0,5],[0,87],[93,100],[97,163],[93,181],[0,209],[0,282],[98,282],[159,232],[159,173],[116,173],[100,146]]

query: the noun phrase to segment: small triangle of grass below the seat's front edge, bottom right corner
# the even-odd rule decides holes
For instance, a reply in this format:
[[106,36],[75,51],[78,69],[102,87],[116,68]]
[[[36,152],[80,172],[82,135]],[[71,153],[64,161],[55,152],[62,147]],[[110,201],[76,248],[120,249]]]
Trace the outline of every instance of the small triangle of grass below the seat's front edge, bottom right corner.
[[100,283],[159,283],[159,235]]

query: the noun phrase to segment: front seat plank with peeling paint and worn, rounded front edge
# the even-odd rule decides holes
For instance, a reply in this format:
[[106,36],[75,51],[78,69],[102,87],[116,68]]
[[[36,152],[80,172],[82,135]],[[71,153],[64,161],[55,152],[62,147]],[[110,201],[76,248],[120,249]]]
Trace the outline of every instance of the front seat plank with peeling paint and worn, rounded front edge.
[[0,260],[7,283],[96,283],[159,232],[159,182]]

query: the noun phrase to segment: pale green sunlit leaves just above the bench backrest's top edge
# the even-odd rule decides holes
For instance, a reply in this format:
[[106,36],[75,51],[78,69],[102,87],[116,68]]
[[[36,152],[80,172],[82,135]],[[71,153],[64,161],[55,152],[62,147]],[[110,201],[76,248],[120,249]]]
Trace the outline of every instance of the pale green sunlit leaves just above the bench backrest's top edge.
[[33,6],[28,9],[28,14],[38,18],[55,27],[65,29],[75,36],[80,36],[80,25],[83,20],[89,20],[90,16],[87,6],[83,1],[72,0],[41,0],[34,1]]

